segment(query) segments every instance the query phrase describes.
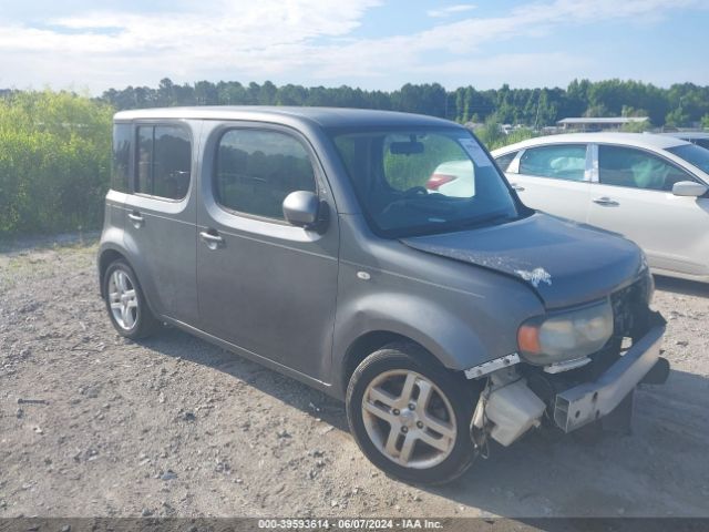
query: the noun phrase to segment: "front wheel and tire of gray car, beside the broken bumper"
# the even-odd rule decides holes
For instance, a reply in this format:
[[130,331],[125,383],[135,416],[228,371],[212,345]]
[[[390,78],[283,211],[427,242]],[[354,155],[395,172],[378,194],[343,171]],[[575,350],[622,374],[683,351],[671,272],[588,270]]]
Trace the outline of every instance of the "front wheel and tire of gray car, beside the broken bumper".
[[[479,390],[473,386],[418,345],[386,346],[350,378],[350,430],[364,456],[387,474],[413,483],[450,482],[475,458],[470,422]],[[419,405],[422,393],[428,399]]]

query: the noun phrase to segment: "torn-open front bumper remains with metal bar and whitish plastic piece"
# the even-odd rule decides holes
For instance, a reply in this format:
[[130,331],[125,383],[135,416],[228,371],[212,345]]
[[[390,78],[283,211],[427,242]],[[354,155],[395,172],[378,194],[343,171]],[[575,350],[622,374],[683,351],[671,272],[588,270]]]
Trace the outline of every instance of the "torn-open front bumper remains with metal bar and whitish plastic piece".
[[[625,421],[620,424],[629,428],[636,386],[640,382],[662,383],[669,372],[667,360],[660,357],[666,321],[658,313],[651,313],[648,321],[645,334],[636,337],[627,351],[599,377],[586,380],[587,376],[579,381],[577,372],[583,368],[574,367],[565,374],[544,377],[546,383],[542,388],[555,389],[553,393],[541,392],[532,382],[535,377],[538,381],[540,376],[546,375],[542,368],[531,370],[516,358],[503,357],[471,368],[465,372],[469,378],[487,378],[471,421],[473,441],[480,444],[490,436],[508,446],[530,428],[538,427],[544,412],[565,432],[606,416],[608,420],[618,418],[621,411],[625,415],[620,418]],[[624,405],[629,407],[624,408]]]

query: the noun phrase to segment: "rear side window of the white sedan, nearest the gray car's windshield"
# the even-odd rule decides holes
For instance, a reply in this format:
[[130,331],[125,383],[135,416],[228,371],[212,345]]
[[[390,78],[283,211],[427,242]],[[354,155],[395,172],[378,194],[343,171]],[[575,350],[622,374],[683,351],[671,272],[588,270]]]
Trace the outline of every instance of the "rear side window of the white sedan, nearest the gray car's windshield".
[[520,157],[520,173],[556,180],[584,181],[585,144],[531,147]]

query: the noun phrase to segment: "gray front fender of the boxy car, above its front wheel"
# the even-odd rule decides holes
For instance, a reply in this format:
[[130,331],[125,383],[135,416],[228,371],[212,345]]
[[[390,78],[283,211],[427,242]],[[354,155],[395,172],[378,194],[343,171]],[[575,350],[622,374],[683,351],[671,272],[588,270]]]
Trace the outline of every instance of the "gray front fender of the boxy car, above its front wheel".
[[339,375],[331,382],[351,370],[352,347],[373,351],[386,334],[418,342],[445,368],[472,368],[515,352],[520,324],[544,310],[520,279],[403,245],[379,245],[377,265],[364,265],[366,257],[340,262],[332,342]]

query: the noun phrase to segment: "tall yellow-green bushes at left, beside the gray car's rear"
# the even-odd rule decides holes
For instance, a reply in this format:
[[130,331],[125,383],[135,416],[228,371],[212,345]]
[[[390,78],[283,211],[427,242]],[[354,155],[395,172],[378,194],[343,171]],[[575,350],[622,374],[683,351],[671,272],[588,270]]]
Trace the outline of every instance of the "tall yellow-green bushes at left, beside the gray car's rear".
[[0,236],[100,227],[112,115],[68,92],[0,99]]

